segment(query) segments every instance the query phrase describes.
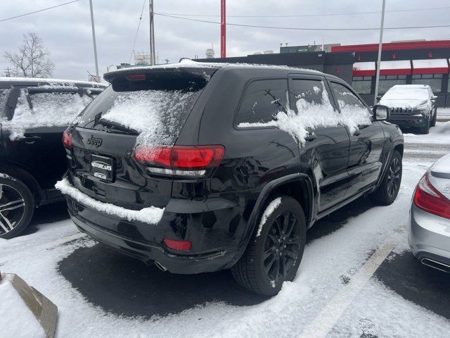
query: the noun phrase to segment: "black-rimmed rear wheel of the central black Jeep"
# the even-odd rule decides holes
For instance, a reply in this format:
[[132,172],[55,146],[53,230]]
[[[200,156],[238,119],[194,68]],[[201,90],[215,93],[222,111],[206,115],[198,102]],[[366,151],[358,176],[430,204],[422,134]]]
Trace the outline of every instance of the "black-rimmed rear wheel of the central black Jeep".
[[[280,201],[279,205],[265,217],[267,207],[276,201]],[[283,282],[294,279],[302,261],[307,229],[302,206],[295,199],[283,195],[270,202],[261,217],[266,221],[262,226],[260,221],[245,253],[231,268],[236,282],[265,296],[278,294]],[[269,255],[265,260],[264,253]]]

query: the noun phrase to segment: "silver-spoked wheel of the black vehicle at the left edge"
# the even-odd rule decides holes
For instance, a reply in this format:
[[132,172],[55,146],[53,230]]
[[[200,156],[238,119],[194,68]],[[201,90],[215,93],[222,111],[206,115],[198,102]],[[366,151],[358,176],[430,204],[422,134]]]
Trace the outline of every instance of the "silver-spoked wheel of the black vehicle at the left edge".
[[34,213],[34,198],[20,180],[0,174],[0,238],[11,239],[25,230]]

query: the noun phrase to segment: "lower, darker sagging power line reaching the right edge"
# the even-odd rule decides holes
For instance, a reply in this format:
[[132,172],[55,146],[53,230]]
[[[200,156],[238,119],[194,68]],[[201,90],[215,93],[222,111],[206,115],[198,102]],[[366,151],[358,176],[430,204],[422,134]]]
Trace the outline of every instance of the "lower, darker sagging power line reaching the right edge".
[[[155,13],[155,15],[166,16],[167,18],[175,18],[181,20],[190,20],[190,21],[198,21],[200,23],[215,23],[220,25],[217,21],[210,20],[200,20],[200,19],[191,19],[191,18],[181,18],[176,15],[168,15],[163,13]],[[311,28],[311,27],[278,27],[278,26],[263,26],[263,25],[245,25],[240,23],[226,23],[228,26],[238,26],[238,27],[254,27],[254,28],[267,28],[271,30],[315,30],[315,31],[354,31],[354,30],[380,30],[379,27],[369,28],[369,27],[359,27],[359,28]],[[385,30],[417,30],[422,28],[444,28],[450,27],[450,25],[434,25],[434,26],[406,26],[406,27],[385,27]]]

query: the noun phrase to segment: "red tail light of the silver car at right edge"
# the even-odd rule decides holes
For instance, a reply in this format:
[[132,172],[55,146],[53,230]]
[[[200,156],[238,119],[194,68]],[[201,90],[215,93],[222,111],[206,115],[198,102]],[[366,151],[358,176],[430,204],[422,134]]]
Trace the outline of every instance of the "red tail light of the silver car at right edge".
[[450,218],[450,200],[432,186],[428,180],[428,173],[423,175],[417,184],[413,203],[423,211]]

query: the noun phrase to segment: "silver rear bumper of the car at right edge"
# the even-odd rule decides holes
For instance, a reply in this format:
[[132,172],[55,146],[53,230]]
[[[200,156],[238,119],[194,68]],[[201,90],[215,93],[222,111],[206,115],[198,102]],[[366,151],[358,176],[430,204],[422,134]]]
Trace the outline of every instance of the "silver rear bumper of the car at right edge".
[[408,241],[419,261],[423,258],[450,265],[450,220],[411,206]]

